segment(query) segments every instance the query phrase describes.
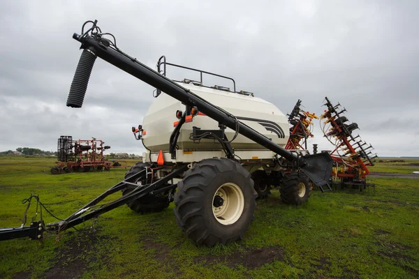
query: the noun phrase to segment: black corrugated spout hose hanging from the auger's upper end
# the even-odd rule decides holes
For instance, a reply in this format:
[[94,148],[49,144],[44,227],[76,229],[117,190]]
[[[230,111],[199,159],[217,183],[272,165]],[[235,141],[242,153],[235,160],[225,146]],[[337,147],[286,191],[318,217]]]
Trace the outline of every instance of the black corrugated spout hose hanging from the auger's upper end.
[[82,107],[84,94],[87,90],[87,84],[89,84],[89,78],[95,60],[96,54],[93,48],[83,50],[77,68],[75,69],[73,82],[71,82],[67,107]]

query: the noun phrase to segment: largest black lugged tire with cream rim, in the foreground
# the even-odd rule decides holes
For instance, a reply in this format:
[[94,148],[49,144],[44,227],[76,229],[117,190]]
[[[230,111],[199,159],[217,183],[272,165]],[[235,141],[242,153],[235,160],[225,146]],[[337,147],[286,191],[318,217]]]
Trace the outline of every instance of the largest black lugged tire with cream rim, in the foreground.
[[257,193],[251,175],[239,163],[205,159],[177,183],[175,216],[197,245],[214,246],[243,239],[254,220]]

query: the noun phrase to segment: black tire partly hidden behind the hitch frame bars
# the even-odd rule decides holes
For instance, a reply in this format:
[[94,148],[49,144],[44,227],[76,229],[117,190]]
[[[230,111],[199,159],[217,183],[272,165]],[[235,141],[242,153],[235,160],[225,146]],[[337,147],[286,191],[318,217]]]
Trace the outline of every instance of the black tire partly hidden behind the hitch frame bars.
[[[141,172],[145,167],[149,167],[148,163],[136,163],[131,167],[131,169],[126,172],[124,179],[133,176],[138,172]],[[133,181],[133,183],[142,183],[142,185],[147,184],[147,177],[145,174],[140,176],[138,179]],[[128,185],[127,188],[122,190],[122,195],[128,195],[131,193],[136,186]],[[152,212],[160,212],[163,209],[166,209],[169,206],[169,198],[166,195],[145,195],[144,197],[140,197],[140,199],[135,199],[133,202],[129,202],[128,207],[135,211],[136,213],[152,213]]]

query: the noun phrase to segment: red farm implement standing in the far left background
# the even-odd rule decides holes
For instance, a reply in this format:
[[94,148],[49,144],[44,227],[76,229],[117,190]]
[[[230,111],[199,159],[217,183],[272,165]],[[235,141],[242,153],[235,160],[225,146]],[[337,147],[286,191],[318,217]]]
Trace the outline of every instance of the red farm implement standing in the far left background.
[[64,172],[108,171],[119,166],[118,162],[106,160],[103,151],[110,149],[102,140],[73,140],[73,137],[61,135],[58,139],[57,167],[51,168],[52,174]]

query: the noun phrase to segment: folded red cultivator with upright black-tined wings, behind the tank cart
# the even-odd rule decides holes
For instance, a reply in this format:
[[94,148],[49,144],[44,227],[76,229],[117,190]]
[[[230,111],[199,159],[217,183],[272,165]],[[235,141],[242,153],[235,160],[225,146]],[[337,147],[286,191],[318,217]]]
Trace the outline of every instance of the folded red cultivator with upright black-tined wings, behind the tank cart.
[[[336,190],[369,190],[369,186],[374,184],[367,183],[367,167],[374,165],[377,156],[372,153],[371,145],[362,142],[360,135],[353,137],[352,132],[358,129],[358,124],[349,123],[346,116],[342,115],[346,110],[339,110],[341,105],[332,105],[327,97],[325,100],[328,110],[321,115],[320,126],[324,136],[335,146],[330,152],[334,167],[327,188],[319,188],[322,192],[332,190],[332,187]],[[316,114],[302,110],[301,100],[298,100],[291,114],[288,114],[290,138],[286,149],[307,150],[307,139],[313,137],[313,119],[319,118]],[[314,144],[314,153],[317,153],[317,144]]]

